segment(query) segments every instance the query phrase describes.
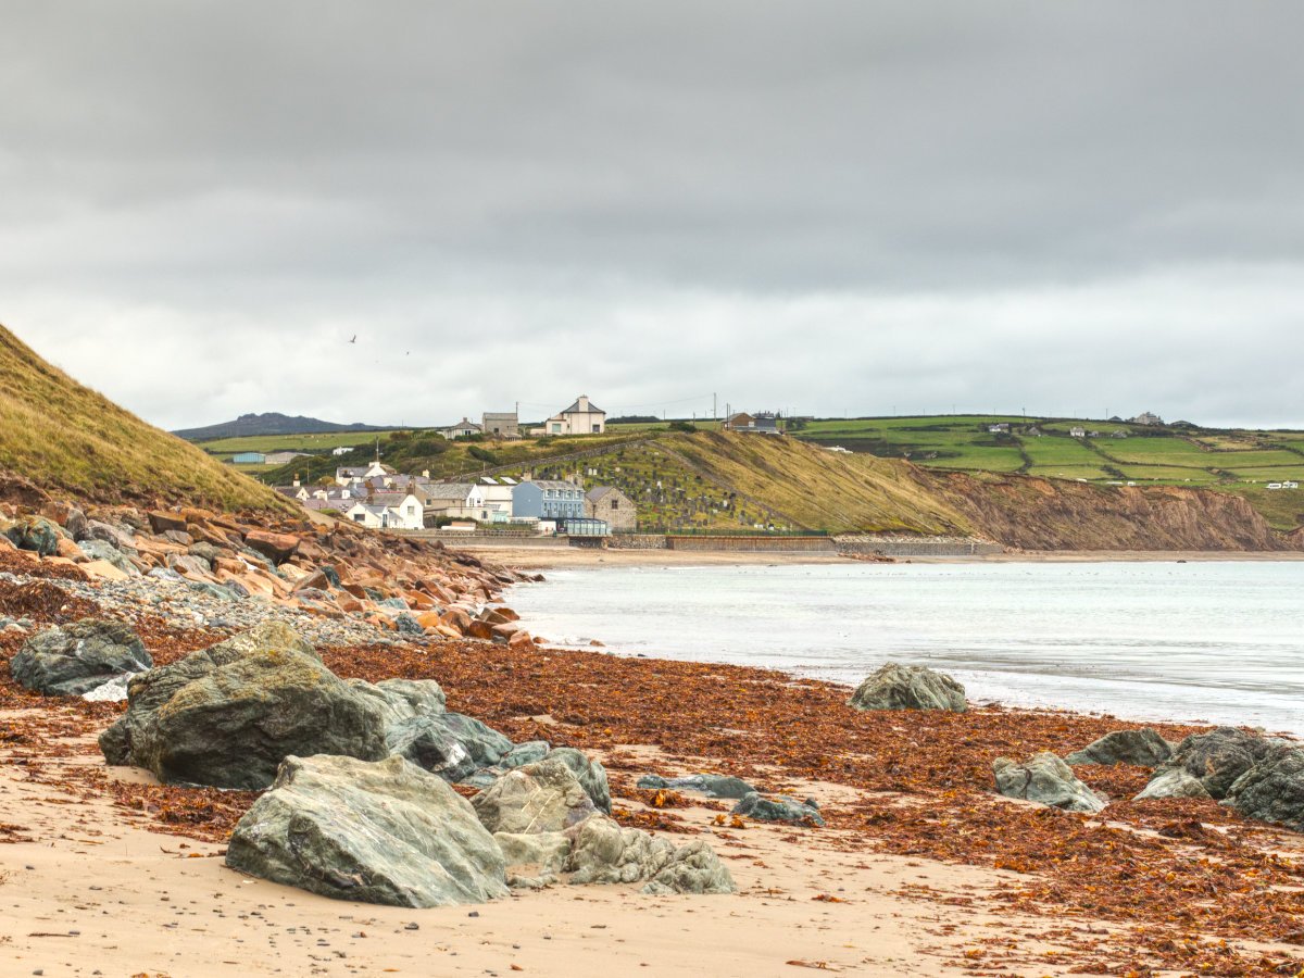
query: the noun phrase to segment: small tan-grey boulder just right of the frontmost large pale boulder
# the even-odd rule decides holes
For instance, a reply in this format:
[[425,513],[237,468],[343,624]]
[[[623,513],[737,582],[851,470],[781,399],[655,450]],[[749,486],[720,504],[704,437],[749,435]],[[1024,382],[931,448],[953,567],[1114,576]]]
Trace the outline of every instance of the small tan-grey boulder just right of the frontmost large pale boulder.
[[563,832],[597,811],[559,758],[509,771],[471,799],[490,832]]

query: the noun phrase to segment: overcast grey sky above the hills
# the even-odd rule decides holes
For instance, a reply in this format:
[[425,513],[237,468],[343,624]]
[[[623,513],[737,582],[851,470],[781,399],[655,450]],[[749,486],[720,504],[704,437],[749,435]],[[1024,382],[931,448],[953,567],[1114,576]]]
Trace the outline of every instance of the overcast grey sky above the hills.
[[0,322],[167,428],[1304,426],[1304,4],[0,13]]

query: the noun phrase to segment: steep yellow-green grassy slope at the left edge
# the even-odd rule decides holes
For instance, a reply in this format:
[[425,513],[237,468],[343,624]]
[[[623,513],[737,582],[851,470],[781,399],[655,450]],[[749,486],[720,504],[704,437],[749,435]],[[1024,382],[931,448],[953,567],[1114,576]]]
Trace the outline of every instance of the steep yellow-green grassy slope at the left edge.
[[3,326],[0,469],[102,501],[286,509],[265,485],[77,383]]

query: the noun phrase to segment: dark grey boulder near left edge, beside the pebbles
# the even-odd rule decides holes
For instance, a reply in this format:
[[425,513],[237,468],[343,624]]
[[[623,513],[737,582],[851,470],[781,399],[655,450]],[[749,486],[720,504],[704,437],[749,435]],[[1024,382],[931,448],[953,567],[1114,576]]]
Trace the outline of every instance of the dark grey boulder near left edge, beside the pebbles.
[[29,690],[81,696],[126,673],[154,665],[145,644],[121,622],[83,618],[46,629],[27,639],[9,662],[13,678]]

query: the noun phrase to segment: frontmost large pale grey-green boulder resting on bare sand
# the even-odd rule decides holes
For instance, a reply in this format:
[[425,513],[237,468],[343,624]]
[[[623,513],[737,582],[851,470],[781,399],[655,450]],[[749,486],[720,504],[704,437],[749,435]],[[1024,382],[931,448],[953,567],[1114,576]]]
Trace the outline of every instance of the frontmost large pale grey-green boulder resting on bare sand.
[[507,895],[506,866],[471,805],[402,758],[287,758],[245,812],[227,866],[338,900],[480,904]]

